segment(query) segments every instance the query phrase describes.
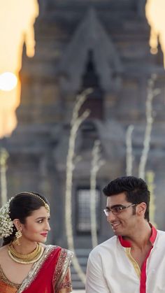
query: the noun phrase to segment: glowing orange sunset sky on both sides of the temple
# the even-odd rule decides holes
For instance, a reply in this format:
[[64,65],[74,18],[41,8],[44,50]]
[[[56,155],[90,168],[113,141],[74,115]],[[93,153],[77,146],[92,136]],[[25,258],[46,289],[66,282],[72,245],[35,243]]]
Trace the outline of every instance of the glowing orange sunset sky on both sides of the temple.
[[[138,0],[137,0],[138,1]],[[35,53],[34,22],[38,17],[37,0],[0,0],[0,138],[15,129],[16,108],[20,105],[22,48],[28,57]],[[145,15],[150,24],[150,52],[156,54],[158,43],[165,56],[165,0],[147,0]],[[165,57],[164,57],[165,67]],[[13,74],[10,78],[6,72]]]

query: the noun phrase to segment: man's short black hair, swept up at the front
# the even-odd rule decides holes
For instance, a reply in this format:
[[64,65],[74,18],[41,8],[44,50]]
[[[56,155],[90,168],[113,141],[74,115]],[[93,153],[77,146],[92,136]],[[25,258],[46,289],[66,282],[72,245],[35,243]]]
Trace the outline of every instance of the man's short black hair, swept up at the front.
[[145,219],[149,222],[150,191],[145,181],[134,176],[123,176],[116,178],[103,188],[103,194],[106,196],[122,192],[126,194],[126,199],[130,203],[146,203]]

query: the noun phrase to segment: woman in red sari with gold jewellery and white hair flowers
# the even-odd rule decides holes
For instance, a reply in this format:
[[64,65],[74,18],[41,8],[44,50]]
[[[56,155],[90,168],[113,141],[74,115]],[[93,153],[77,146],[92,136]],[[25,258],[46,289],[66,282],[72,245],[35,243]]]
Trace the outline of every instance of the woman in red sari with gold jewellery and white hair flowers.
[[50,207],[41,194],[22,192],[0,209],[0,292],[71,292],[72,252],[44,245]]

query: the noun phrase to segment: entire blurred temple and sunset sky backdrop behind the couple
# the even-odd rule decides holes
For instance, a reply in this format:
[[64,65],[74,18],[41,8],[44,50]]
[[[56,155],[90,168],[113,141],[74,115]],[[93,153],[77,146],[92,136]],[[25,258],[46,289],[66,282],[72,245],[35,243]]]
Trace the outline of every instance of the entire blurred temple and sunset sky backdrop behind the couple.
[[89,251],[113,235],[103,187],[145,179],[165,229],[164,0],[0,0],[1,205],[48,197],[49,243]]

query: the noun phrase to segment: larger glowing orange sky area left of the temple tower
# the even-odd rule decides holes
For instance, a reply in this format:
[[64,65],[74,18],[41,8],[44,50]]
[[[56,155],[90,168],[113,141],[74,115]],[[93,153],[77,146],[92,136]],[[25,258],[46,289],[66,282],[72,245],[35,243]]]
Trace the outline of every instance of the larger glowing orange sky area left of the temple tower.
[[[26,45],[28,57],[34,56],[34,22],[38,16],[37,0],[0,0],[0,138],[9,136],[17,125],[15,110],[20,105],[22,48]],[[6,78],[7,87],[1,87],[2,73],[13,73],[15,87]],[[3,79],[3,85],[5,84]],[[7,88],[7,90],[6,90]]]

